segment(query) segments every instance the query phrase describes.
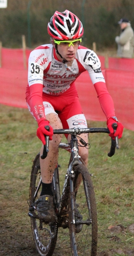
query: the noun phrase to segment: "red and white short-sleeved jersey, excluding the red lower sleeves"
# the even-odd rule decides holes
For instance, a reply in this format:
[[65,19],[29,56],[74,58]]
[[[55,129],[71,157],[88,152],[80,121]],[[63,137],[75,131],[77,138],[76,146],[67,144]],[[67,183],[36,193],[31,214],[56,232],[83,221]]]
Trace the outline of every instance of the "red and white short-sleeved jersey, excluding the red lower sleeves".
[[59,95],[70,88],[84,71],[88,71],[93,84],[103,81],[100,60],[96,53],[79,46],[74,61],[58,61],[52,44],[34,49],[29,56],[29,86],[43,84],[43,93]]

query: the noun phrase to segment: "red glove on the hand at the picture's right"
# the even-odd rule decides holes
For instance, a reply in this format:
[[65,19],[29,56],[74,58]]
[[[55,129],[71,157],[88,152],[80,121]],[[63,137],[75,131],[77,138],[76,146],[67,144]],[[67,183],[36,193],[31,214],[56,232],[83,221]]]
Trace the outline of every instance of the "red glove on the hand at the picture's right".
[[[112,124],[114,123],[117,123],[117,129],[114,133],[114,129],[112,127]],[[110,131],[110,134],[109,136],[111,138],[114,139],[114,137],[118,136],[118,139],[120,139],[122,137],[122,134],[123,134],[123,125],[117,121],[115,121],[115,119],[113,119],[112,117],[110,117],[107,121],[107,127],[108,127],[108,130]]]

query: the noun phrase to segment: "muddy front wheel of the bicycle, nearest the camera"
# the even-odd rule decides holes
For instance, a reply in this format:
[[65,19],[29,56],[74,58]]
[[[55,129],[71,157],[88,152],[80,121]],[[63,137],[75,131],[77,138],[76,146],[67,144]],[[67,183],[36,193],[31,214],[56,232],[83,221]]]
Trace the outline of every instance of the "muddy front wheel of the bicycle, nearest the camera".
[[[74,192],[70,194],[70,202],[68,208],[69,215],[69,234],[71,242],[71,250],[73,256],[96,256],[97,255],[97,209],[94,195],[94,188],[89,175],[88,169],[83,164],[79,164],[75,170],[76,177],[74,178]],[[80,186],[78,179],[82,176]],[[87,224],[73,224],[72,211],[75,212],[72,206],[72,197],[76,200],[77,209],[80,215],[83,216],[82,221],[88,221]],[[75,216],[75,221],[76,221]],[[81,231],[80,231],[81,230]],[[78,233],[79,232],[79,233]]]

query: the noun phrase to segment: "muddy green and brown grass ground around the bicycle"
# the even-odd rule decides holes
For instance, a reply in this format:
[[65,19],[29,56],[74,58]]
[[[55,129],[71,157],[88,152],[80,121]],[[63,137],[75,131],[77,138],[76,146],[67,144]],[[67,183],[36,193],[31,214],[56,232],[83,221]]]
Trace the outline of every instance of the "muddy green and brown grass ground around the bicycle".
[[[106,127],[88,121],[88,127]],[[0,255],[36,256],[28,216],[29,181],[41,142],[37,123],[27,109],[0,105]],[[64,139],[65,141],[65,139]],[[108,134],[90,134],[88,169],[96,194],[97,256],[134,256],[134,131],[124,129],[120,149],[109,158]],[[60,151],[64,177],[69,153]],[[65,231],[59,233],[54,256],[68,255]]]

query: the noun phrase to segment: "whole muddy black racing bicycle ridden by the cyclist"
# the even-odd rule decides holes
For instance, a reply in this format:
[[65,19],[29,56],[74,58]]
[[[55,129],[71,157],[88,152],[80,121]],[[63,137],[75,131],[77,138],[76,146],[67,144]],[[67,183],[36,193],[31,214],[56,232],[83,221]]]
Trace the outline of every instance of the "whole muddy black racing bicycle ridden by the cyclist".
[[[114,124],[116,129],[117,124]],[[63,192],[60,195],[59,165],[57,164],[53,175],[54,208],[56,220],[49,224],[40,221],[34,206],[40,196],[41,173],[40,153],[34,159],[29,195],[29,216],[31,228],[37,252],[41,256],[51,256],[57,243],[58,228],[69,229],[71,255],[96,256],[97,255],[97,209],[95,203],[94,188],[87,167],[80,158],[78,152],[77,137],[82,133],[109,133],[107,128],[72,128],[54,130],[54,134],[71,134],[70,143],[60,143],[59,148],[70,150],[70,160],[65,175]],[[43,155],[47,156],[48,136]],[[88,146],[84,140],[80,140],[83,146]],[[118,138],[111,139],[111,149],[108,156],[114,155],[118,147]]]

